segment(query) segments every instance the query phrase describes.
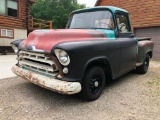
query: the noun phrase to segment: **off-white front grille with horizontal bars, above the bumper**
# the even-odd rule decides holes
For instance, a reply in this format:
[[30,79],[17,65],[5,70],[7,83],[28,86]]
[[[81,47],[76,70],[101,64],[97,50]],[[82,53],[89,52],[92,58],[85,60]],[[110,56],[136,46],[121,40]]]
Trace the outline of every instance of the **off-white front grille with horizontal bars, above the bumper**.
[[23,68],[50,76],[58,75],[58,68],[55,62],[43,53],[20,51],[18,60],[19,65]]

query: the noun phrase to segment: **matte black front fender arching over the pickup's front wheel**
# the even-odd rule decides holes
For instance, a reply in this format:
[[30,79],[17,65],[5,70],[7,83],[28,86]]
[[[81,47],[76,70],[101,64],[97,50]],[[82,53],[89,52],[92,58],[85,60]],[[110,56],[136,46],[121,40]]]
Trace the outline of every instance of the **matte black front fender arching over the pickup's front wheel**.
[[62,42],[51,50],[54,54],[55,49],[65,50],[70,57],[70,64],[62,66],[68,68],[68,74],[63,78],[68,81],[82,81],[87,66],[100,59],[109,62],[112,74],[119,74],[120,44],[116,40],[97,39],[94,41]]

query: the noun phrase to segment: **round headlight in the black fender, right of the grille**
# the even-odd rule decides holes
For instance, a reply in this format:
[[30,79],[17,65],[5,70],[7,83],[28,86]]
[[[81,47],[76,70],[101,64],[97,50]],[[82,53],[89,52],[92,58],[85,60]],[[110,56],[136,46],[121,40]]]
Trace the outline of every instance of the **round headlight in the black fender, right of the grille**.
[[55,49],[54,52],[62,65],[67,66],[70,63],[70,58],[64,50]]

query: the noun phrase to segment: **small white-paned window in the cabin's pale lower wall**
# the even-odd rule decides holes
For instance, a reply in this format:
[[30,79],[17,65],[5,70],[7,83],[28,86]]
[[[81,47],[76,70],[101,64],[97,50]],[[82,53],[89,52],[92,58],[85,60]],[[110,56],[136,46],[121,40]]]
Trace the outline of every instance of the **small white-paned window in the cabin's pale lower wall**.
[[0,37],[14,38],[13,29],[0,29]]

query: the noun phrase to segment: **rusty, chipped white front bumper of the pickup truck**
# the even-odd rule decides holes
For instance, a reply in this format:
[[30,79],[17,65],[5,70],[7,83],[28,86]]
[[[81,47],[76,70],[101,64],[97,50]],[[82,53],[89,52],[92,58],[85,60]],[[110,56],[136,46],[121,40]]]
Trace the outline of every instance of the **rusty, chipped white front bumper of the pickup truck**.
[[44,75],[25,70],[14,65],[12,67],[13,73],[46,89],[61,93],[61,94],[75,94],[81,91],[81,84],[79,82],[67,82],[49,78]]

